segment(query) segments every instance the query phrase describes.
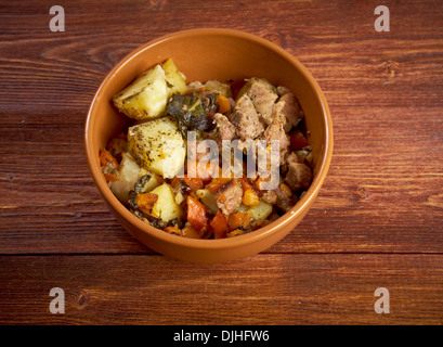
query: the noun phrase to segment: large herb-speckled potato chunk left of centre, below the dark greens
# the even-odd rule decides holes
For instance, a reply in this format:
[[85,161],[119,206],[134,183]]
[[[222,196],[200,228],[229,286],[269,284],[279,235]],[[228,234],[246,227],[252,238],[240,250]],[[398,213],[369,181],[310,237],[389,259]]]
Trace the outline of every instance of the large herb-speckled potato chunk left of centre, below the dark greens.
[[186,150],[173,117],[153,119],[129,128],[128,150],[143,168],[173,178],[184,165]]

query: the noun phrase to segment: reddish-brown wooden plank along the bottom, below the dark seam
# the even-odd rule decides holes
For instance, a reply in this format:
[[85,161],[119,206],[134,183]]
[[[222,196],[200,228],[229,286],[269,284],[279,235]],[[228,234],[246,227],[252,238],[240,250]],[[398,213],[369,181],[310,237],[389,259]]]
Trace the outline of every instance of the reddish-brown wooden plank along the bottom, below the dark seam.
[[[0,257],[2,324],[442,324],[442,255]],[[65,313],[49,310],[51,288]],[[376,313],[377,287],[390,313]]]

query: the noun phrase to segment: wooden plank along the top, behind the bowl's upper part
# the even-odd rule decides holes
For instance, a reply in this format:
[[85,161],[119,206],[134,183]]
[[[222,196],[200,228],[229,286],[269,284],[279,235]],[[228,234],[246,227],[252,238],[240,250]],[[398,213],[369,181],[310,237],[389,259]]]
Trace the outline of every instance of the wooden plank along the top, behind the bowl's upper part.
[[[0,108],[84,111],[123,55],[174,30],[212,27],[214,17],[219,27],[246,30],[286,48],[325,90],[339,93],[344,105],[366,104],[354,91],[367,88],[377,88],[370,94],[386,102],[441,105],[442,83],[435,81],[442,69],[441,2],[395,3],[391,31],[381,34],[374,30],[375,7],[370,1],[225,1],[219,7],[206,1],[106,7],[100,1],[67,1],[66,31],[51,33],[47,7],[9,3],[0,24]],[[412,10],[417,7],[420,11]],[[263,15],[269,15],[266,21]],[[165,21],[178,16],[181,21]]]

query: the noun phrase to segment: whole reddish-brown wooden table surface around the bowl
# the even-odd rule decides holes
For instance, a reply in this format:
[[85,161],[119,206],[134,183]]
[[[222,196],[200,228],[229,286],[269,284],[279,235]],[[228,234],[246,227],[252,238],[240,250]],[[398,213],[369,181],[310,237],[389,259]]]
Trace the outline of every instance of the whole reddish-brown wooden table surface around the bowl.
[[[65,31],[50,30],[47,1],[0,7],[1,324],[443,323],[442,1],[54,4]],[[375,29],[379,4],[390,31]],[[196,27],[245,30],[297,56],[335,130],[328,177],[300,226],[221,265],[171,260],[132,239],[83,150],[106,73],[142,43]],[[64,313],[51,313],[53,287]],[[379,287],[389,313],[375,310]]]

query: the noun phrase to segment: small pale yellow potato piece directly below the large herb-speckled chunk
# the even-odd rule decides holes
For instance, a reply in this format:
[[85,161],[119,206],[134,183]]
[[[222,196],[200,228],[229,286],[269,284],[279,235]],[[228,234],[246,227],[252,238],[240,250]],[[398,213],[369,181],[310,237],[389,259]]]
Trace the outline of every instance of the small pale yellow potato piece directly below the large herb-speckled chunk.
[[149,214],[151,216],[160,218],[166,222],[182,216],[182,208],[175,203],[172,189],[168,183],[157,187],[151,193],[158,195],[158,200]]

